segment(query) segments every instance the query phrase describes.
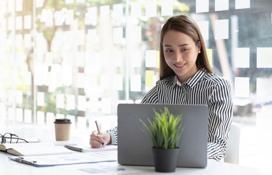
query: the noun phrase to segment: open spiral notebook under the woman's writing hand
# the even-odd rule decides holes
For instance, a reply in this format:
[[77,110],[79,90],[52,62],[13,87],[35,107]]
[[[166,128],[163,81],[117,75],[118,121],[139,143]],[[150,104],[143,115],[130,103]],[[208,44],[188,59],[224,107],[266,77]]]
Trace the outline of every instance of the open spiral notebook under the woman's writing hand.
[[80,152],[117,150],[117,145],[106,145],[105,147],[99,147],[99,148],[93,148],[90,145],[64,145],[64,147],[71,150],[80,151]]

